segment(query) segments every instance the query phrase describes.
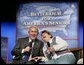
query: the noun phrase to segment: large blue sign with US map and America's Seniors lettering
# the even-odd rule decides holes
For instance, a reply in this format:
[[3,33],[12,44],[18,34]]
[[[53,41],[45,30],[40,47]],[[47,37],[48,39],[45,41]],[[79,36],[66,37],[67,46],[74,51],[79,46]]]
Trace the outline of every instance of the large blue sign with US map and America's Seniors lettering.
[[17,10],[17,39],[28,36],[28,27],[49,30],[65,39],[69,48],[78,47],[78,2],[23,3]]

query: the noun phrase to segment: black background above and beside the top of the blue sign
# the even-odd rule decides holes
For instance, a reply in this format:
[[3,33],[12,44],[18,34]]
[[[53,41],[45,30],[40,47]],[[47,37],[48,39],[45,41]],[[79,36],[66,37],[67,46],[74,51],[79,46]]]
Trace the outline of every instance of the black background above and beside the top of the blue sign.
[[79,2],[79,21],[83,20],[83,1],[82,0],[2,0],[1,2],[1,20],[16,21],[16,11],[19,3],[25,2],[58,2],[58,1],[78,1]]

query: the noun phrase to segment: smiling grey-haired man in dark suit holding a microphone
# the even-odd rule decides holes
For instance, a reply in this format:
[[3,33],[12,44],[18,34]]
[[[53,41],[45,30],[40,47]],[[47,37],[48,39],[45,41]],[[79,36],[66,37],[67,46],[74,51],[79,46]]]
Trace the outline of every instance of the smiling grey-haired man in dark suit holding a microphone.
[[[12,64],[34,64],[38,63],[36,61],[40,61],[43,56],[43,42],[37,39],[38,36],[38,28],[37,27],[29,27],[28,31],[29,37],[20,38],[17,40],[14,49],[11,54],[15,56],[11,61]],[[32,42],[33,40],[33,42]],[[31,45],[32,44],[32,45]],[[30,52],[31,50],[31,52]],[[29,55],[27,61],[24,62],[23,58],[25,55]]]

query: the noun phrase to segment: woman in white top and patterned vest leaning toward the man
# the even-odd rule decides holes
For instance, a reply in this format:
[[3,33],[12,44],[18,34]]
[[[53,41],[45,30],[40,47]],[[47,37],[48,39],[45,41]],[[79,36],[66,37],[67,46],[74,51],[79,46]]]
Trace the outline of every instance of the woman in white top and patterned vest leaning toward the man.
[[68,44],[59,36],[44,30],[42,40],[46,43],[43,47],[45,64],[75,64],[75,56],[68,50]]

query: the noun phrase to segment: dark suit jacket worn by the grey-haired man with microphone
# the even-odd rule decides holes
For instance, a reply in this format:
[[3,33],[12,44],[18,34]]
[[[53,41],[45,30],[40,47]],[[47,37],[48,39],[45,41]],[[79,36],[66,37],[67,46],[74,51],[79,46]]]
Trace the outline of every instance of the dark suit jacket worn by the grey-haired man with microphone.
[[[29,37],[20,38],[17,40],[16,45],[12,50],[11,54],[15,56],[15,59],[20,60],[22,56],[25,54],[21,53],[22,49],[26,48],[27,46],[29,46]],[[43,56],[42,48],[43,48],[43,42],[36,38],[32,50],[32,57]]]

